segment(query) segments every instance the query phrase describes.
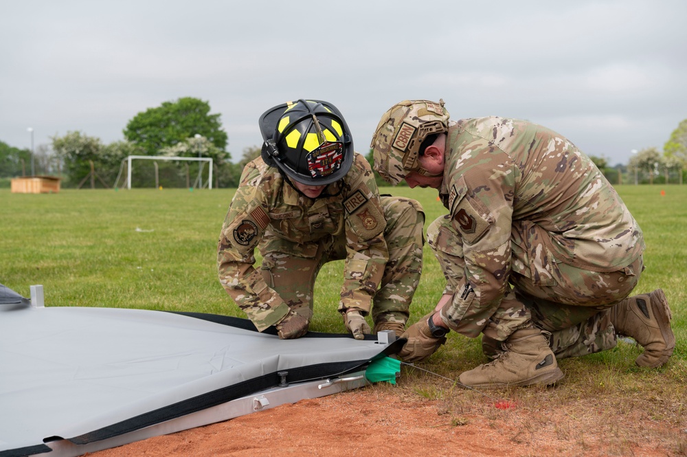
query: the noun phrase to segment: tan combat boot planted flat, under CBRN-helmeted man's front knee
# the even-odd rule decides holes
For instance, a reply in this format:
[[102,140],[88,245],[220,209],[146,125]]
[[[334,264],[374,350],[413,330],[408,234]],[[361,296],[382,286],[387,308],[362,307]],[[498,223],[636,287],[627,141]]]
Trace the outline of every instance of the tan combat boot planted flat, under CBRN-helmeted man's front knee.
[[515,331],[502,344],[504,354],[488,364],[460,375],[460,383],[471,388],[546,385],[563,377],[556,357],[539,328]]

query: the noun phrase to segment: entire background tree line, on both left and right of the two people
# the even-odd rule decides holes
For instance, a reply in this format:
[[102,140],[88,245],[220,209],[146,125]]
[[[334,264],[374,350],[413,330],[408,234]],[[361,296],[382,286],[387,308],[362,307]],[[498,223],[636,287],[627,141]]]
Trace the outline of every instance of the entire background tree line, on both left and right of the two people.
[[[69,131],[64,136],[51,137],[50,145],[38,145],[33,157],[26,148],[14,148],[0,141],[0,186],[9,187],[12,177],[30,175],[32,159],[36,175],[57,175],[66,188],[82,186],[89,176],[91,183],[100,188],[123,186],[124,159],[129,155],[146,155],[212,157],[213,186],[236,187],[245,164],[260,155],[260,147],[251,146],[243,150],[237,163],[233,163],[227,151],[228,137],[221,124],[221,115],[210,113],[208,102],[192,97],[163,102],[159,107],[137,113],[126,124],[123,133],[123,141],[103,144],[98,137]],[[372,151],[367,158],[372,164]],[[613,184],[682,184],[687,172],[687,119],[679,123],[663,151],[656,147],[633,151],[627,164],[613,167],[604,157],[591,158]],[[155,161],[153,179],[153,164],[150,163],[153,161],[145,162],[148,164],[132,167],[132,187],[153,187],[159,178],[167,187],[184,187],[190,186],[190,175],[194,175],[197,184],[203,182],[201,175],[208,175],[208,170],[197,162],[160,161],[158,164]],[[93,179],[93,172],[97,174],[97,181]],[[377,178],[380,185],[385,185]]]

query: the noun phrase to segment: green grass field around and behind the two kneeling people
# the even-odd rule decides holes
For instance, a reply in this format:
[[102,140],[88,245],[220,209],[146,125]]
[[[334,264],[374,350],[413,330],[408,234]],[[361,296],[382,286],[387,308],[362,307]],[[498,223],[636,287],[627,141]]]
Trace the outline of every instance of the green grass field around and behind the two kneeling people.
[[[436,190],[382,191],[420,200],[427,224],[445,212],[436,201]],[[687,186],[618,186],[618,192],[639,221],[647,245],[646,271],[636,292],[661,287],[673,309],[677,337],[673,357],[657,370],[638,368],[633,361],[641,349],[621,342],[605,353],[561,361],[566,377],[554,389],[534,387],[503,394],[534,410],[567,405],[570,414],[586,416],[592,408],[594,414],[608,414],[609,420],[639,408],[649,420],[683,430],[687,427]],[[232,194],[233,190],[224,189],[58,194],[11,194],[0,189],[0,283],[23,296],[30,296],[30,285],[43,285],[46,306],[245,317],[216,277],[216,243]],[[311,330],[344,331],[336,312],[341,269],[341,262],[322,269]],[[411,322],[433,308],[443,283],[425,246]],[[484,361],[479,339],[452,333],[446,346],[418,366],[456,379]],[[480,392],[455,390],[445,379],[412,367],[404,368],[403,379],[403,388],[446,401],[452,414],[464,414],[480,398]],[[687,440],[679,438],[675,443],[673,452],[687,455]]]

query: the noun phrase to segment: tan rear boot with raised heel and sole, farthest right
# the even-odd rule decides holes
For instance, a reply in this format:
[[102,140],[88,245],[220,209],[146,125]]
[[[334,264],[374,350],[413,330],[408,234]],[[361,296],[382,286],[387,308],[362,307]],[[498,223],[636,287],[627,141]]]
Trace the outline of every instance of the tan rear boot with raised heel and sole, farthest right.
[[639,366],[657,368],[675,348],[671,309],[661,289],[626,298],[611,308],[611,322],[619,335],[634,338],[644,347],[635,360]]

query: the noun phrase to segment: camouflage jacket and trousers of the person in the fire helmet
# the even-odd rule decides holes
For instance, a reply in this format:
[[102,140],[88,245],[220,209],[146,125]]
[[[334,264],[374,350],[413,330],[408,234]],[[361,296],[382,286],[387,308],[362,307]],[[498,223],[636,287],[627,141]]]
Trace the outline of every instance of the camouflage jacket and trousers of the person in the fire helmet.
[[[341,186],[341,187],[339,187]],[[422,271],[420,203],[379,197],[370,165],[355,154],[341,193],[309,199],[261,158],[243,170],[218,244],[219,279],[259,331],[289,309],[310,318],[313,286],[330,260],[346,259],[339,311],[405,324]],[[254,249],[263,256],[254,269]]]

